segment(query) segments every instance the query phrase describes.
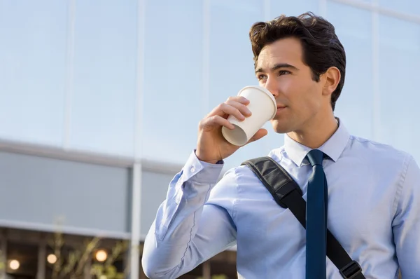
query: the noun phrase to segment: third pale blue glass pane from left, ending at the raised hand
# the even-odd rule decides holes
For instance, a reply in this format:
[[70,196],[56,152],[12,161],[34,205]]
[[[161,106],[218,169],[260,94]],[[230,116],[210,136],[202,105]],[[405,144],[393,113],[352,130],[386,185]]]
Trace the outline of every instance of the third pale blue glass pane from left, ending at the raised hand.
[[202,109],[202,1],[146,3],[142,156],[184,163]]

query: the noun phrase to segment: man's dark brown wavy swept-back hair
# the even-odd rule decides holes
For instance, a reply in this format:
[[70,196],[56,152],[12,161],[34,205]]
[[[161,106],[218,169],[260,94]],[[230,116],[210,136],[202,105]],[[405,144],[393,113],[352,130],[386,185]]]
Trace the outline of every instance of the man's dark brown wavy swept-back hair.
[[314,81],[319,81],[319,76],[332,66],[339,69],[341,79],[331,95],[334,110],[346,74],[346,53],[334,26],[314,13],[304,13],[298,17],[281,15],[269,22],[255,22],[249,31],[254,66],[264,46],[288,37],[295,37],[302,43],[303,62],[311,68]]

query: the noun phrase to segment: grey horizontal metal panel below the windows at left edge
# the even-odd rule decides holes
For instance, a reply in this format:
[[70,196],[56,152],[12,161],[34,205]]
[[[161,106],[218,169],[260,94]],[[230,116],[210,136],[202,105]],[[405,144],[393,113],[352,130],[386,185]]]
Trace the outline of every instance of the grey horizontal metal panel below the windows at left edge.
[[0,152],[0,226],[124,237],[130,169]]

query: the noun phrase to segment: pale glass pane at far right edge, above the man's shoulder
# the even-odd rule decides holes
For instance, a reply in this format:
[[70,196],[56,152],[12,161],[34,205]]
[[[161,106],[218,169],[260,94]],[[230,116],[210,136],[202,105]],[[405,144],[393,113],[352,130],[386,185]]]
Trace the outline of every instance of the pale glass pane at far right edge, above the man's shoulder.
[[420,25],[379,18],[381,141],[409,151],[420,160]]

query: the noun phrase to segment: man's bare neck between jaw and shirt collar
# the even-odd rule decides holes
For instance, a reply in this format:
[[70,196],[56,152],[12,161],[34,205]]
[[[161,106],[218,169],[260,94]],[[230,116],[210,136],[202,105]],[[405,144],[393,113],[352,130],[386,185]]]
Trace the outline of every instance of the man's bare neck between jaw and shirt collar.
[[318,149],[334,134],[337,128],[337,120],[330,111],[327,116],[312,118],[311,121],[305,123],[304,128],[288,132],[288,136],[305,147]]

